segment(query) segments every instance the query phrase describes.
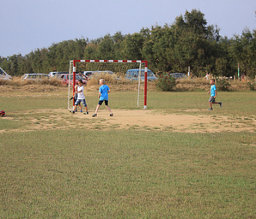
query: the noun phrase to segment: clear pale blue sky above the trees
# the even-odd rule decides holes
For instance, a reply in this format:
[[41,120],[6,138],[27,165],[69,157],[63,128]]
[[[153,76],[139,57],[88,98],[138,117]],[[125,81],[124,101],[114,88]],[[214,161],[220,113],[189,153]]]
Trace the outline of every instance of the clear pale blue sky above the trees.
[[207,25],[232,38],[256,29],[255,0],[0,0],[0,56],[48,48],[76,38],[139,33],[200,10]]

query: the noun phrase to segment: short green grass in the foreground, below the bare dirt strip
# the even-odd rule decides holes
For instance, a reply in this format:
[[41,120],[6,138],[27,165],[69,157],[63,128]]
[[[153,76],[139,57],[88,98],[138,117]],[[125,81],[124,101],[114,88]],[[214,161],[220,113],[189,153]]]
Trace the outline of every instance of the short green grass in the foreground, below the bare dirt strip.
[[253,218],[255,144],[255,133],[7,133],[0,215]]

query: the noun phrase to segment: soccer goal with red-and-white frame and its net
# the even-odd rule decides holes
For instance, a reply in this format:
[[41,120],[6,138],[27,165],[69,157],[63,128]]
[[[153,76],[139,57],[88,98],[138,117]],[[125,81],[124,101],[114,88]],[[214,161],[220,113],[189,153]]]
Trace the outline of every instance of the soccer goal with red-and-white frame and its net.
[[[126,72],[129,69],[137,69],[136,77],[127,77]],[[144,60],[70,60],[69,78],[71,80],[68,84],[68,109],[71,110],[74,107],[74,102],[70,102],[70,98],[73,97],[75,87],[71,86],[71,84],[76,84],[77,74],[85,75],[85,77],[88,74],[92,74],[88,76],[89,78],[94,75],[100,75],[101,77],[103,74],[112,74],[113,80],[116,80],[117,84],[131,83],[136,87],[132,89],[137,96],[134,102],[135,105],[137,104],[137,107],[143,106],[143,109],[147,109],[147,80],[144,80],[147,78],[147,72],[148,61]]]

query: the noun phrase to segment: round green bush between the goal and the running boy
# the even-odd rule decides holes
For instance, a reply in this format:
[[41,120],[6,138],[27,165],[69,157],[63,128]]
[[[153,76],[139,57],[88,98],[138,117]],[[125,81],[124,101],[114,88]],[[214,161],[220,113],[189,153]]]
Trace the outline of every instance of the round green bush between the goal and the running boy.
[[176,80],[173,76],[170,76],[167,73],[161,74],[158,77],[158,80],[155,80],[155,86],[163,92],[170,92],[176,86]]

